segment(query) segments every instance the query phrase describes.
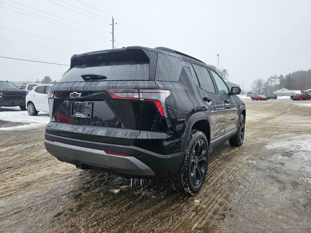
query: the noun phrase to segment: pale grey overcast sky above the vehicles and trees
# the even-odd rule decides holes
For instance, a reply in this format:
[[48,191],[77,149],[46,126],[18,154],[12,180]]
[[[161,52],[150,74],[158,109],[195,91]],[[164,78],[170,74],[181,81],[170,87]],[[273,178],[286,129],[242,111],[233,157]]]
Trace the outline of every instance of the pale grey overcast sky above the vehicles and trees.
[[[73,54],[112,48],[110,41],[112,28],[109,25],[112,22],[109,15],[113,15],[116,18],[115,23],[118,23],[115,25],[115,46],[117,48],[132,45],[151,48],[165,46],[215,66],[217,66],[218,53],[219,67],[228,70],[230,81],[241,86],[244,81],[244,90],[247,91],[250,90],[254,79],[263,78],[266,80],[270,75],[286,75],[296,70],[311,68],[311,1],[309,0],[79,0],[100,11],[77,0],[12,1],[0,0],[0,56],[2,57],[69,65],[70,57]],[[72,30],[60,25],[68,28],[75,26],[79,29],[74,28],[75,30]],[[74,45],[8,30],[3,27]],[[88,33],[85,34],[80,32],[81,29],[90,32],[84,31]],[[0,64],[0,79],[11,81],[41,80],[45,75],[49,75],[53,80],[59,80],[68,68],[68,66],[5,58],[0,58]]]

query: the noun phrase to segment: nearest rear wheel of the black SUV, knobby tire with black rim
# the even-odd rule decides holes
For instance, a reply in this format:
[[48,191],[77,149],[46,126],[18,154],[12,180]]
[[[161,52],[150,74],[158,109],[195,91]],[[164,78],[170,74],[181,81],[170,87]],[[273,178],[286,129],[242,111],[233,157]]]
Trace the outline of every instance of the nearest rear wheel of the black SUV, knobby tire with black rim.
[[199,130],[191,130],[185,157],[176,176],[171,178],[174,190],[194,195],[204,184],[208,165],[208,143]]

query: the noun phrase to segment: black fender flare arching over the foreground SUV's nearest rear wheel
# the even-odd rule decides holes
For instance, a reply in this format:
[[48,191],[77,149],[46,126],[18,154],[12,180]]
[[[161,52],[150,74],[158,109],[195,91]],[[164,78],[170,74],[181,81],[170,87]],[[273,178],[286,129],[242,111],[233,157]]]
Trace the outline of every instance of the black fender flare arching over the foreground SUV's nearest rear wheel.
[[[188,118],[188,117],[187,117]],[[186,119],[186,128],[183,134],[183,142],[182,142],[182,146],[181,146],[181,152],[185,152],[186,148],[187,148],[187,144],[190,138],[190,133],[191,133],[191,129],[192,126],[194,125],[194,123],[196,123],[197,121],[201,121],[201,120],[205,120],[208,122],[210,128],[211,128],[211,121],[209,121],[210,117],[206,114],[206,112],[197,112],[194,113],[192,116],[190,116],[188,119]],[[208,142],[210,143],[210,142]]]

